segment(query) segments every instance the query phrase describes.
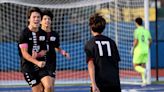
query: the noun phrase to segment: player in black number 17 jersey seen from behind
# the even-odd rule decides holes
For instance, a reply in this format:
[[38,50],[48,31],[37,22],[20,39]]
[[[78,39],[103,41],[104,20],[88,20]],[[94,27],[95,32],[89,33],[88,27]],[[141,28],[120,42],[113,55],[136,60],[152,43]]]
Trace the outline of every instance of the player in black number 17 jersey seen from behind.
[[120,56],[115,42],[102,35],[106,21],[99,14],[90,17],[93,35],[85,45],[92,92],[121,92],[119,67]]

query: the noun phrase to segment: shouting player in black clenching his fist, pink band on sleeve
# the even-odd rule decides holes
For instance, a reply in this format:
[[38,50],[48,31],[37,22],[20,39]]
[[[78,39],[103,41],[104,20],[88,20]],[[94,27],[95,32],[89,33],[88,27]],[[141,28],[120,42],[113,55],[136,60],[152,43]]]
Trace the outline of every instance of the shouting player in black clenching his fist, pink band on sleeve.
[[22,31],[19,41],[21,70],[25,80],[32,87],[32,92],[52,92],[45,69],[46,35],[39,30],[41,15],[41,10],[36,7],[28,11],[28,27]]

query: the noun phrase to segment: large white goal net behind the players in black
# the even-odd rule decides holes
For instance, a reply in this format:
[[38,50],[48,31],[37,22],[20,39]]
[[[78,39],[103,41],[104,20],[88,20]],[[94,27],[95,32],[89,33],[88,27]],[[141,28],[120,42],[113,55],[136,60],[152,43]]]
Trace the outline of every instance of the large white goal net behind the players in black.
[[107,21],[103,34],[117,43],[121,83],[141,81],[133,69],[130,49],[134,19],[145,19],[148,14],[144,0],[0,0],[0,85],[26,84],[20,72],[17,41],[27,26],[29,7],[53,11],[52,29],[60,35],[61,48],[70,53],[71,60],[57,53],[56,84],[90,83],[83,48],[91,38],[88,22],[95,12]]

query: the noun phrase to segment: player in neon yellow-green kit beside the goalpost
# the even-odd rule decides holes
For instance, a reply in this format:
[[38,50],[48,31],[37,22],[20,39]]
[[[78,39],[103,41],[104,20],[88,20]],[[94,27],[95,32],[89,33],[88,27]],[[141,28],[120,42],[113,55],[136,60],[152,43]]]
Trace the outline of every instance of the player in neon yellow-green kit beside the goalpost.
[[151,35],[148,30],[142,26],[140,17],[135,19],[137,29],[134,31],[133,41],[133,66],[134,69],[141,74],[143,86],[146,85],[146,69],[145,64],[148,61],[149,47],[151,45]]

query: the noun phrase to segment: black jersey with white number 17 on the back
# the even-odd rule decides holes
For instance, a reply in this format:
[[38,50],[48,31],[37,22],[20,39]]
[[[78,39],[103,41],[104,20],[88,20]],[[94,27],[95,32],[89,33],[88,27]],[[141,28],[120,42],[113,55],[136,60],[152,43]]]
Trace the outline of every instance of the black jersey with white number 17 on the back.
[[95,65],[95,80],[98,86],[119,86],[118,62],[120,56],[115,42],[103,35],[97,35],[85,45],[87,63],[90,58]]

